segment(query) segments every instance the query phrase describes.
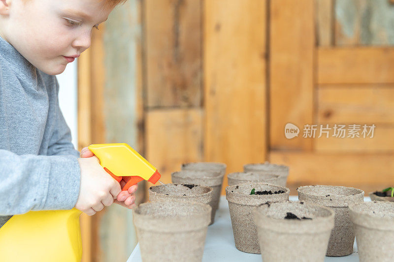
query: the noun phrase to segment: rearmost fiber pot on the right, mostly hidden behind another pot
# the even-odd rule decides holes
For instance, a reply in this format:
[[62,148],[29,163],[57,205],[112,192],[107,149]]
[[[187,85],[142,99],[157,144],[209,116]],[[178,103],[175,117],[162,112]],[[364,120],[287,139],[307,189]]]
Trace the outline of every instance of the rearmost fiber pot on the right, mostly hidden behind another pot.
[[280,186],[286,186],[287,177],[289,176],[288,166],[270,164],[268,161],[265,163],[244,165],[243,170],[245,172],[279,175],[278,185]]

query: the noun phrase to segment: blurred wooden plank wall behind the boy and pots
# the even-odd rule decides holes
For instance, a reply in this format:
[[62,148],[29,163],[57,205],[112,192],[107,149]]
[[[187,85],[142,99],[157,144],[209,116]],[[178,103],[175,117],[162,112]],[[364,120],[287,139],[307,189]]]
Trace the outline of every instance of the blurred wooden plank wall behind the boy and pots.
[[[231,173],[268,160],[290,166],[292,195],[309,184],[381,190],[394,182],[393,44],[393,0],[128,0],[59,77],[62,109],[79,149],[128,143],[165,183],[183,162]],[[287,123],[298,137],[285,137]],[[327,124],[360,125],[360,137],[318,138]],[[81,220],[84,262],[127,260],[130,210]]]

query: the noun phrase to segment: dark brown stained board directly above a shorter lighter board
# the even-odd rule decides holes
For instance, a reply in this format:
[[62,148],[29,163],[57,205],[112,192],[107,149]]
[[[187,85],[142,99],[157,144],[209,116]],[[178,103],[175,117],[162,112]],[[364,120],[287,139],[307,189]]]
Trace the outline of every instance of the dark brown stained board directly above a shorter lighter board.
[[201,105],[201,1],[144,1],[147,105]]

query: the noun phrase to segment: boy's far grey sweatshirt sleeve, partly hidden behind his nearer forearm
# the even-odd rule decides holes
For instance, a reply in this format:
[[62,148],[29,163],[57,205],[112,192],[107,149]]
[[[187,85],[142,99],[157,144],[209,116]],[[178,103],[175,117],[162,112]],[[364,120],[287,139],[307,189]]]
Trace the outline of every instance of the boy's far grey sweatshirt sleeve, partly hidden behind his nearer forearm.
[[54,130],[49,141],[48,155],[73,155],[79,157],[79,151],[74,149],[71,143],[71,131],[66,123],[66,120],[59,107],[59,83],[56,77],[53,76],[56,93],[51,101],[54,114],[51,116],[50,121],[54,126]]

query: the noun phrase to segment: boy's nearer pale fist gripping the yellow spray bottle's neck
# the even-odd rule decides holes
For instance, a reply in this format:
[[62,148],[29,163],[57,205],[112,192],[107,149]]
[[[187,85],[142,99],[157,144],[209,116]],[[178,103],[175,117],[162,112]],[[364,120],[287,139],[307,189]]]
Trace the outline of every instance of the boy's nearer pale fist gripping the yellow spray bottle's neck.
[[121,192],[119,183],[100,166],[96,156],[78,158],[81,168],[81,186],[75,208],[94,215],[111,205]]

